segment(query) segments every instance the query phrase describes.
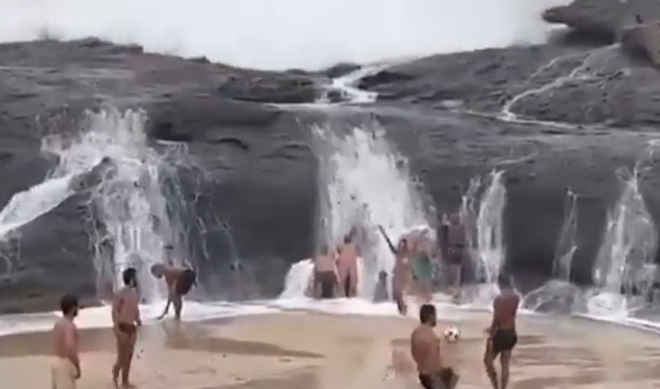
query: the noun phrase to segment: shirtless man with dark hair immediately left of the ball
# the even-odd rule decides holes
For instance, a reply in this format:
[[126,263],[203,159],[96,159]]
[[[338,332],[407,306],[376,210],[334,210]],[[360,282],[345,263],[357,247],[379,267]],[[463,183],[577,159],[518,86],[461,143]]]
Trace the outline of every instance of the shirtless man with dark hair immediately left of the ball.
[[410,353],[417,365],[419,382],[425,389],[453,389],[458,383],[458,374],[442,365],[440,339],[433,331],[437,321],[433,304],[421,306],[419,321],[410,337]]

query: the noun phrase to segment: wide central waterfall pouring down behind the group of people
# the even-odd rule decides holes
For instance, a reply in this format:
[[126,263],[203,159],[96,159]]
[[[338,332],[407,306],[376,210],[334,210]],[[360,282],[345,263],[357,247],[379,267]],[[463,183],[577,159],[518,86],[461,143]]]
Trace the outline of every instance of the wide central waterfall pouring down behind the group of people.
[[[396,240],[412,228],[426,226],[421,193],[409,176],[405,159],[392,149],[379,126],[356,127],[343,136],[326,127],[312,131],[321,160],[319,240],[335,247],[351,228],[358,227],[363,258],[360,296],[372,298],[378,272],[391,274],[394,265],[377,227],[383,226]],[[287,297],[294,297],[291,291],[300,291],[294,284],[307,285],[297,277],[311,276],[311,261],[306,262],[308,270],[300,267],[302,263],[293,265],[287,276]]]

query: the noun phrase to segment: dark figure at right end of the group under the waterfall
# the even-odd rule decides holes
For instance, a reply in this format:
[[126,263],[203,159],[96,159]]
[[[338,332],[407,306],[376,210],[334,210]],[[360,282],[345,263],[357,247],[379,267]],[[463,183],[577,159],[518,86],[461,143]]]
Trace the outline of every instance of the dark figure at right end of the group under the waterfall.
[[440,249],[447,265],[450,293],[458,302],[461,293],[461,272],[465,260],[467,236],[465,226],[458,212],[449,215],[449,223],[442,222],[440,228]]

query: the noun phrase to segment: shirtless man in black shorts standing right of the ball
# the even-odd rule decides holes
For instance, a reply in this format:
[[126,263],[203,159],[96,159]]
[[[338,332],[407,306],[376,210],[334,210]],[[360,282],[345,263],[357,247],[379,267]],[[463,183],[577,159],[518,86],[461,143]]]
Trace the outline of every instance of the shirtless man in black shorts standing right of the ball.
[[[486,342],[486,353],[484,354],[484,364],[486,365],[486,374],[488,374],[493,389],[506,389],[509,383],[509,364],[511,362],[511,353],[518,342],[516,334],[516,314],[520,297],[514,292],[511,286],[511,279],[505,274],[498,276],[500,286],[500,295],[493,301],[493,321],[486,333],[489,335]],[[500,355],[500,365],[502,365],[502,382],[498,383],[497,373],[495,372],[495,358]]]

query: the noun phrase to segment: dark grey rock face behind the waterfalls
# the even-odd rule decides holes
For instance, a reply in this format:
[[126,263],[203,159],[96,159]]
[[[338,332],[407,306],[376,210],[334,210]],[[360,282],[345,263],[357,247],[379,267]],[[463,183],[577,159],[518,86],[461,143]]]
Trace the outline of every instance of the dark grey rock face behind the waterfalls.
[[[622,26],[619,4],[577,0],[544,17],[614,34]],[[650,45],[635,31],[651,34],[652,25],[624,30],[623,45]],[[377,103],[292,105],[314,102],[330,85],[327,75],[353,68],[248,71],[96,39],[0,45],[0,206],[57,164],[41,152],[44,135],[77,133],[86,109],[142,108],[153,147],[185,145],[194,161],[176,178],[190,214],[225,226],[187,230],[187,254],[207,297],[232,297],[241,288],[272,297],[290,263],[309,257],[316,244],[318,139],[311,126],[341,134],[377,122],[439,211],[458,207],[471,177],[506,170],[507,267],[514,274],[551,277],[566,189],[573,189],[580,197],[572,277],[591,281],[608,209],[622,191],[615,172],[640,161],[657,138],[660,75],[650,61],[603,40],[443,54],[360,80],[360,88],[379,94]],[[660,175],[654,161],[643,163],[640,186],[658,223]],[[0,279],[0,311],[54,309],[65,291],[92,300],[102,294],[86,203],[85,191],[77,193],[0,245],[13,260],[13,272]],[[232,270],[237,258],[243,275]]]

